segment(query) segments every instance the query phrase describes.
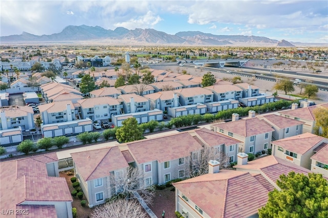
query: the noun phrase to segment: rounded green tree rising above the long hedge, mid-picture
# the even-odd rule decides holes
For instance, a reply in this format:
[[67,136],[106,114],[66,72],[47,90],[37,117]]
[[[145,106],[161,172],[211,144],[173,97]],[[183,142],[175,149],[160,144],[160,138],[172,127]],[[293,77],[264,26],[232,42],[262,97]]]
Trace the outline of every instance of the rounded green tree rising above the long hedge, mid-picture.
[[137,120],[133,118],[128,118],[122,122],[122,126],[116,131],[116,139],[119,142],[132,142],[140,140],[142,138],[142,129]]

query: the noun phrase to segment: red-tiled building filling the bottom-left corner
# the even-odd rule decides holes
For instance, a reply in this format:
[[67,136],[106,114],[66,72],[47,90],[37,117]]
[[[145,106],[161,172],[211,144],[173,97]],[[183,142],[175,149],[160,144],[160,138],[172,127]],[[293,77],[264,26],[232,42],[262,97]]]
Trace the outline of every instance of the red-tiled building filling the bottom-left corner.
[[73,199],[59,177],[55,153],[4,161],[0,177],[2,217],[73,217]]

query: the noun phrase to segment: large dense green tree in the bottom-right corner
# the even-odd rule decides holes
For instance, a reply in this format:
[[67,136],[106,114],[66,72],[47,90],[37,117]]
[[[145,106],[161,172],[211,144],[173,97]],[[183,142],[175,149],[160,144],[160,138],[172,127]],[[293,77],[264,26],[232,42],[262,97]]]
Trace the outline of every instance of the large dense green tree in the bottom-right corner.
[[277,185],[281,190],[269,192],[259,217],[328,217],[328,183],[321,174],[292,171],[280,175]]

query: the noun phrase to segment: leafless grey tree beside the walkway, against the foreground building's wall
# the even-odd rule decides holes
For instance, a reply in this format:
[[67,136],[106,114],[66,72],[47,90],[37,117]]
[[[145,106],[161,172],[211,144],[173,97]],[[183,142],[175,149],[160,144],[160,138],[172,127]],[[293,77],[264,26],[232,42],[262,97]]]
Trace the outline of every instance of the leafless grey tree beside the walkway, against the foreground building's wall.
[[114,187],[113,190],[116,190],[114,193],[125,195],[127,200],[139,199],[148,205],[152,204],[155,187],[146,184],[144,172],[137,167],[130,166],[126,173],[111,175],[110,184],[111,188]]

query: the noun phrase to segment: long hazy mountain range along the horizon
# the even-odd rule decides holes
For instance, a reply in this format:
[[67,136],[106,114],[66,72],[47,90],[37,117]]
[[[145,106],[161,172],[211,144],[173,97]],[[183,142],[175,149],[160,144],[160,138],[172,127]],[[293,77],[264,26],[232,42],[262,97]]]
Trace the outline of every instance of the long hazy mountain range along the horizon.
[[244,35],[213,35],[199,31],[178,32],[175,35],[154,29],[128,30],[117,27],[115,30],[106,30],[102,27],[67,26],[60,33],[51,35],[33,35],[23,32],[20,35],[0,37],[2,43],[11,42],[74,42],[93,41],[108,44],[127,45],[180,45],[180,46],[272,46],[294,47],[291,42],[275,40],[262,36]]

